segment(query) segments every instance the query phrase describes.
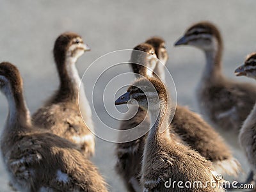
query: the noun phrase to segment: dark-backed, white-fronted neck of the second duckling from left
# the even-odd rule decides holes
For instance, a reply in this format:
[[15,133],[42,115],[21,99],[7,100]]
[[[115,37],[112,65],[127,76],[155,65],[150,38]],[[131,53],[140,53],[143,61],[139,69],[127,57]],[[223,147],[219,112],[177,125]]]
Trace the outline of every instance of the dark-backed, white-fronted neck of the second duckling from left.
[[60,88],[56,98],[77,102],[81,78],[77,72],[76,59],[66,58],[63,68],[59,68]]

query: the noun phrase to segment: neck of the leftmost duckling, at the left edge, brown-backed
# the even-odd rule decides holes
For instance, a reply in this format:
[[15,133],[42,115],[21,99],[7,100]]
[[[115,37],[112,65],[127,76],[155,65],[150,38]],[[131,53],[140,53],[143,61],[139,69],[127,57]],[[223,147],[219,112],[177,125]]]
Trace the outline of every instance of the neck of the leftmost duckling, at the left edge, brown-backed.
[[13,93],[10,89],[8,89],[6,90],[6,98],[9,106],[6,121],[8,131],[12,131],[12,127],[16,127],[14,125],[17,124],[24,125],[24,127],[26,127],[26,125],[31,125],[30,113],[26,106],[22,92]]

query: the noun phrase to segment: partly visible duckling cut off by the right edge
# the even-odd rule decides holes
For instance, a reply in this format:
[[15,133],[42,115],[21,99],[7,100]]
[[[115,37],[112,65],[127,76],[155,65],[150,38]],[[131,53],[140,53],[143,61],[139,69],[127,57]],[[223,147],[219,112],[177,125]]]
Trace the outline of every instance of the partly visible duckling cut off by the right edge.
[[[256,52],[253,52],[252,54],[249,54],[244,61],[244,64],[238,67],[235,71],[236,76],[247,76],[251,77],[253,79],[256,79]],[[243,123],[243,126],[241,127],[240,133],[239,133],[239,142],[241,144],[241,147],[244,149],[244,152],[246,154],[246,157],[248,159],[248,162],[250,163],[250,166],[252,168],[252,175],[250,175],[247,179],[247,183],[256,183],[256,154],[255,154],[255,148],[256,148],[256,105],[254,104],[254,107],[246,118],[246,120]]]

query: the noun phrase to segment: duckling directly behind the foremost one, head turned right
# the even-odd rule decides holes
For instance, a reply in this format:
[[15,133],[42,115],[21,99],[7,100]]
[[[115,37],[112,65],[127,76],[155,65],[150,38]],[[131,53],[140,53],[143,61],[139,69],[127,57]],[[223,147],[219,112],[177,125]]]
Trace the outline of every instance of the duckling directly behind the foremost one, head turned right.
[[[130,62],[134,63],[131,65],[131,68],[136,76],[152,76],[152,70],[156,68],[156,63],[158,62],[154,47],[150,44],[137,45],[134,47],[134,51],[132,51]],[[140,63],[141,65],[136,63]],[[142,108],[138,108],[138,112],[130,120],[122,121],[119,129],[129,130],[138,125],[143,132],[147,132],[150,127],[147,111]],[[122,133],[118,135],[120,141],[122,141],[123,137],[127,137],[127,135]],[[116,143],[115,152],[117,162],[115,170],[122,177],[125,187],[130,192],[142,191],[140,186],[140,171],[145,138],[146,136],[143,136],[127,143]]]

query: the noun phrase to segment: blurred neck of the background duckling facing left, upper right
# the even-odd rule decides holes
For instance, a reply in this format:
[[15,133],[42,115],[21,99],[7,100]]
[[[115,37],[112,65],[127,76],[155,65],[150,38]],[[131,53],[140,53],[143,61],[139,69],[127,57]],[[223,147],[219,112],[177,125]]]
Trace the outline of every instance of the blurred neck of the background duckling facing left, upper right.
[[213,49],[205,51],[206,65],[204,68],[203,79],[215,80],[221,75],[221,56],[222,56],[222,44],[216,43]]

